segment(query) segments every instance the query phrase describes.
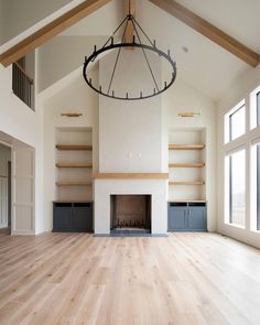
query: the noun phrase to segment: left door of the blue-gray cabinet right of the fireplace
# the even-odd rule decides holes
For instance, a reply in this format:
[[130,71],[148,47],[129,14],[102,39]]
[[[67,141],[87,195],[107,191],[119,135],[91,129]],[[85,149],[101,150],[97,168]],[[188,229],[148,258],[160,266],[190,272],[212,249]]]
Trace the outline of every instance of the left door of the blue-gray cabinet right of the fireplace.
[[169,207],[169,231],[182,231],[186,229],[186,207]]

